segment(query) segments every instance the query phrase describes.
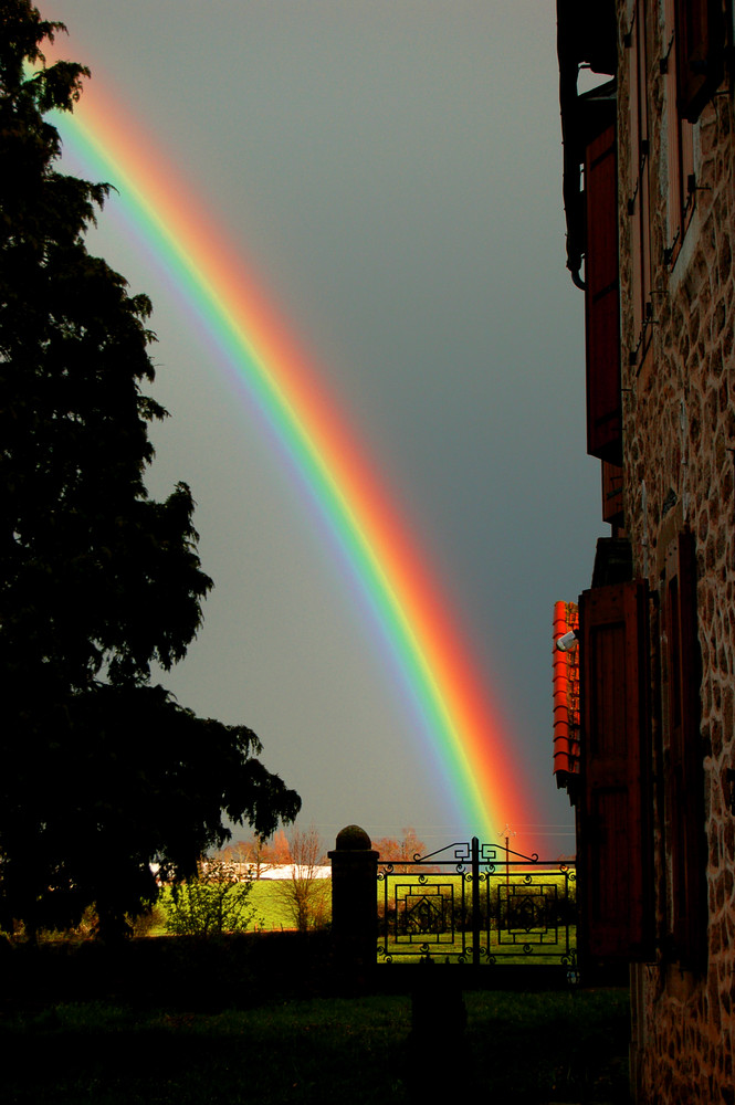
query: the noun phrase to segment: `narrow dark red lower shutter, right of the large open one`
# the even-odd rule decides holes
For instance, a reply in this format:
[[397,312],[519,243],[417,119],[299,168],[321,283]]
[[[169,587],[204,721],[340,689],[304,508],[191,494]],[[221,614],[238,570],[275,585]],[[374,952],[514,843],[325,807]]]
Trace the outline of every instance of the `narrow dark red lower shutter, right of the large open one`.
[[706,947],[704,751],[700,733],[700,645],[694,537],[682,533],[666,562],[670,770],[669,851],[673,950],[699,966]]

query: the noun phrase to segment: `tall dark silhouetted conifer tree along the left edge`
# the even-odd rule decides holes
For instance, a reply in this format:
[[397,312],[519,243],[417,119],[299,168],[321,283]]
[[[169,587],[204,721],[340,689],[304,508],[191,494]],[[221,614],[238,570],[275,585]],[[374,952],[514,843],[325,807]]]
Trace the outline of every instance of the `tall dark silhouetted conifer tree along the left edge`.
[[150,304],[91,256],[107,187],[56,169],[46,118],[87,71],[45,65],[63,31],[0,0],[0,920],[112,932],[228,836],[270,834],[298,796],[244,726],[151,683],[181,660],[211,588],[193,502],[144,484]]

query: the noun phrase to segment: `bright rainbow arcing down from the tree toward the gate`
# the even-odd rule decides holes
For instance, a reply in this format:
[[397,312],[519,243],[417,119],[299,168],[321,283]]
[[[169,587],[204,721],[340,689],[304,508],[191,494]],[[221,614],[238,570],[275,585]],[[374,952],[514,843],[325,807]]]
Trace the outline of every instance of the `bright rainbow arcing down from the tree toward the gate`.
[[504,825],[533,822],[511,734],[377,469],[284,322],[234,254],[204,204],[120,104],[95,81],[74,114],[54,124],[86,176],[119,192],[125,221],[198,316],[301,481],[309,488],[343,566],[380,628],[390,665],[418,705],[422,740],[438,762],[458,821],[497,841]]

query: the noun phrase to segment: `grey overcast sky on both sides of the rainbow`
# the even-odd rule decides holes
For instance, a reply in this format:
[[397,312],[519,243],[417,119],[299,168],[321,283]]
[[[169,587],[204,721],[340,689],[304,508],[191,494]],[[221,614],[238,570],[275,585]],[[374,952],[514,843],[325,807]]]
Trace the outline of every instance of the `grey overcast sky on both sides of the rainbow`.
[[[574,848],[552,777],[552,612],[588,586],[582,296],[565,270],[553,0],[49,0],[242,249],[439,569],[512,718],[537,851]],[[460,824],[313,511],[162,274],[103,214],[91,248],[155,306],[154,494],[198,503],[216,589],[166,678],[243,722],[330,844]],[[501,827],[502,828],[502,827]]]

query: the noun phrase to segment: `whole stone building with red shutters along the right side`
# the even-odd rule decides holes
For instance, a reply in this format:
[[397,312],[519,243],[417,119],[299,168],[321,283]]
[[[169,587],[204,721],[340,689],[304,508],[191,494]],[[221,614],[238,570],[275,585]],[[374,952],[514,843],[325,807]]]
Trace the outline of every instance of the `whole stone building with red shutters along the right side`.
[[557,14],[568,266],[610,525],[579,598],[581,961],[631,965],[638,1102],[732,1105],[733,4]]

